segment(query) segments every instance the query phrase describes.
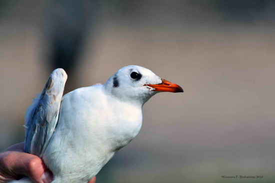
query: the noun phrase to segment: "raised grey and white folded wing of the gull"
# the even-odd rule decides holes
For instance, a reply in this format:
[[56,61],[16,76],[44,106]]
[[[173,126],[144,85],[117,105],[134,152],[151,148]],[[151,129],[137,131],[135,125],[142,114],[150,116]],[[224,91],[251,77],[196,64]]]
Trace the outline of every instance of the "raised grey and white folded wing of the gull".
[[66,80],[66,72],[55,69],[42,93],[26,110],[24,152],[42,157],[58,121]]

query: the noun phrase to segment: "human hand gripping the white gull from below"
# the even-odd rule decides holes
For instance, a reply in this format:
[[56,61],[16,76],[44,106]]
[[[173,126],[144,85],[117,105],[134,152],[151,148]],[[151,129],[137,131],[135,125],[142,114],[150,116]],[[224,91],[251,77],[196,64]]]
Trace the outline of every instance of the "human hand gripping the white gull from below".
[[[0,183],[29,177],[34,183],[50,183],[52,174],[46,169],[43,161],[23,152],[24,143],[15,144],[0,153]],[[93,177],[88,183],[95,183]]]

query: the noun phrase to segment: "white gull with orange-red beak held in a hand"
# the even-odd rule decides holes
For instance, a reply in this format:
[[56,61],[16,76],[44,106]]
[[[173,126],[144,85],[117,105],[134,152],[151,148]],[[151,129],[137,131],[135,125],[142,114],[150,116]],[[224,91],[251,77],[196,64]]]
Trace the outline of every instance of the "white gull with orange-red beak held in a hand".
[[[129,65],[103,85],[62,97],[67,75],[55,69],[25,115],[24,151],[42,158],[52,183],[87,183],[139,132],[143,104],[158,92],[183,92],[149,69]],[[13,183],[32,183],[23,178]]]

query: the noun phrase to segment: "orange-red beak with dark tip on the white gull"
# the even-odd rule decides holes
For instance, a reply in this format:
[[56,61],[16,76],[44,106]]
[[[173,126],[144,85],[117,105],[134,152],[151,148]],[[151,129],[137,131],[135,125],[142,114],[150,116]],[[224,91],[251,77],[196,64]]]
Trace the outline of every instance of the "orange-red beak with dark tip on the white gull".
[[155,90],[153,91],[161,91],[161,92],[183,92],[182,88],[177,84],[171,83],[165,79],[161,79],[162,83],[160,84],[146,84],[146,86],[152,87]]

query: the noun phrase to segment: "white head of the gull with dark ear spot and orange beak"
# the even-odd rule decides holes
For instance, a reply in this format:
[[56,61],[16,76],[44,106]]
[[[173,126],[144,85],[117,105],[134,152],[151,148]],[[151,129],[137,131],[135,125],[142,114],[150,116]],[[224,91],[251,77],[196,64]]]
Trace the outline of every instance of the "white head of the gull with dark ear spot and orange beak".
[[183,92],[180,86],[161,79],[149,69],[136,65],[119,69],[104,84],[104,88],[121,100],[136,101],[141,105],[159,92]]

